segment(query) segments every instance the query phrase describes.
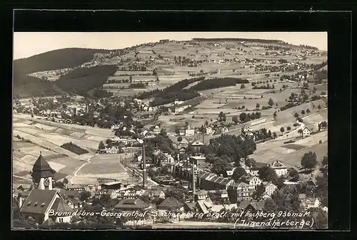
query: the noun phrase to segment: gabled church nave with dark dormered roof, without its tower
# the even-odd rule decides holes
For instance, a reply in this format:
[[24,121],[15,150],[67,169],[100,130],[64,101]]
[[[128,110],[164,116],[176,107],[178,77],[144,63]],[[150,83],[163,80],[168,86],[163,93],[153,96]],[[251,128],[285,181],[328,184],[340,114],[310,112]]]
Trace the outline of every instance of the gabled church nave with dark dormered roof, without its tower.
[[[74,212],[56,190],[32,189],[20,209],[25,219],[31,217],[37,224],[51,219],[54,222],[69,222]],[[54,216],[61,212],[61,216]]]

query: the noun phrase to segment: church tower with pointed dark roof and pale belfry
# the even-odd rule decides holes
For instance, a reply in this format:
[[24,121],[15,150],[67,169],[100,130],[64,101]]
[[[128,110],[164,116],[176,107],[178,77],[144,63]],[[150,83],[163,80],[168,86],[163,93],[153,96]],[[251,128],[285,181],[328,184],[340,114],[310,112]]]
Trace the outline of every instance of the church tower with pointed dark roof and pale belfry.
[[40,152],[40,156],[32,168],[32,187],[41,190],[52,190],[54,173],[54,169],[50,167]]

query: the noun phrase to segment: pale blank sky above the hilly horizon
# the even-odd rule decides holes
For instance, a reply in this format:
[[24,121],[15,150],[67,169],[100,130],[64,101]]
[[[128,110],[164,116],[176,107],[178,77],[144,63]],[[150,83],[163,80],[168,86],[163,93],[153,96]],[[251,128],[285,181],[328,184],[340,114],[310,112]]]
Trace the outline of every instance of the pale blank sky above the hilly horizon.
[[327,51],[327,32],[14,32],[14,59],[61,48],[119,49],[160,39],[258,38],[308,45]]

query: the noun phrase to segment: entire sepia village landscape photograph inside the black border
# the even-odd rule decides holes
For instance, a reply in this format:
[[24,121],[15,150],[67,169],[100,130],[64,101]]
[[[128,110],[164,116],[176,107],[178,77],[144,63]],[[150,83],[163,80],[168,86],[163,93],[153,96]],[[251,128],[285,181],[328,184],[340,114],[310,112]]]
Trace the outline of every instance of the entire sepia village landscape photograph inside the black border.
[[327,32],[13,37],[12,229],[328,228]]

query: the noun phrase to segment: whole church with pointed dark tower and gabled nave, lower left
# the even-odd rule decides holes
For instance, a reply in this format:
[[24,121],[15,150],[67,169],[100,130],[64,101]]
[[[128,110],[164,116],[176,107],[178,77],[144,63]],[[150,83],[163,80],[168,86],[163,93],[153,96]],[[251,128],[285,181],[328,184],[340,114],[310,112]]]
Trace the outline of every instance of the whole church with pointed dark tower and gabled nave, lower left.
[[32,169],[32,189],[29,197],[19,201],[20,213],[25,219],[31,217],[37,224],[43,224],[45,221],[69,222],[73,210],[66,203],[61,194],[53,190],[52,182],[54,169],[40,154]]

